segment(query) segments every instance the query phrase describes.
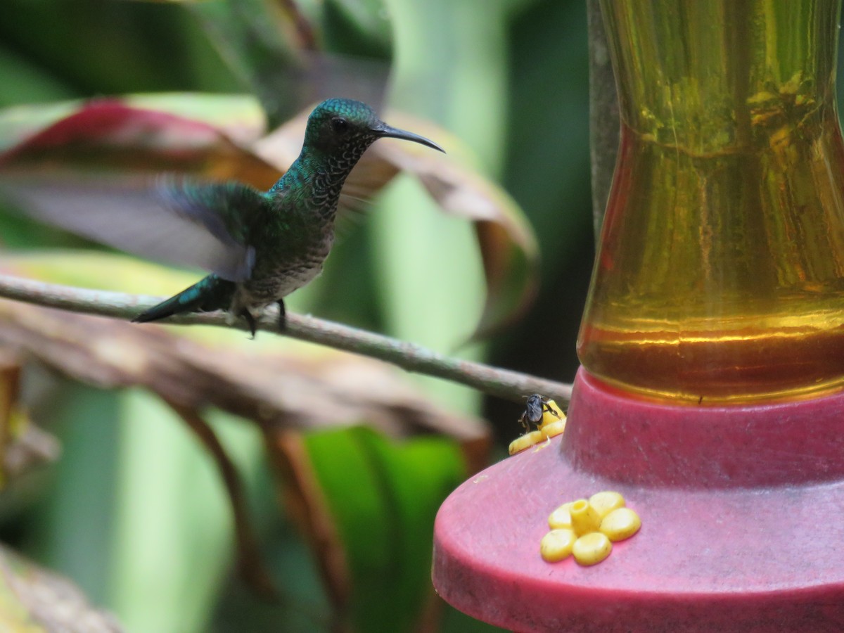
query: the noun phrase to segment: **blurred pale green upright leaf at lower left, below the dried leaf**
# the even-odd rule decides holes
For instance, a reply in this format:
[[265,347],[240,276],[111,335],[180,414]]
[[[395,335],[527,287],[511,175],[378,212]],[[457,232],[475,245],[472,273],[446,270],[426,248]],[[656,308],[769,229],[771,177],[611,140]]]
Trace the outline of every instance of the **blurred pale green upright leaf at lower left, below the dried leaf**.
[[[225,446],[246,457],[241,473],[254,469],[257,430],[212,416],[221,422],[215,430]],[[111,602],[130,630],[208,630],[234,554],[219,473],[203,446],[150,394],[123,394],[121,418]]]

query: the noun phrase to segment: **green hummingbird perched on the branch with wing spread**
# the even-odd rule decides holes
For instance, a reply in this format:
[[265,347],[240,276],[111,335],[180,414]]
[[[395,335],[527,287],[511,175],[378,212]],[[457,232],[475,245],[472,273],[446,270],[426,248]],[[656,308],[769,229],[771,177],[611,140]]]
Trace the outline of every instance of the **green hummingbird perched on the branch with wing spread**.
[[[329,99],[308,117],[305,143],[268,192],[237,181],[160,178],[124,194],[108,186],[74,197],[72,185],[3,189],[30,214],[127,251],[211,271],[191,287],[139,314],[149,322],[181,312],[228,310],[255,336],[258,311],[322,271],[334,239],[334,215],[346,176],[378,138],[403,138],[443,151],[427,138],[382,122],[360,101]],[[77,187],[78,189],[78,187]],[[78,192],[77,192],[78,193]]]

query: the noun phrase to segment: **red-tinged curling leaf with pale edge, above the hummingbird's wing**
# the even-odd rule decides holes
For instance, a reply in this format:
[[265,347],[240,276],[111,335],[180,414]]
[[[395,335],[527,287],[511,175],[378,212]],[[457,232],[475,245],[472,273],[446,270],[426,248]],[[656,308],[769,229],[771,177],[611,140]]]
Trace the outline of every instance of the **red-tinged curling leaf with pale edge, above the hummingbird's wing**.
[[[0,169],[179,171],[262,189],[280,176],[232,140],[247,142],[262,129],[249,100],[154,95],[78,102],[69,111],[46,106],[46,111],[30,106],[0,114],[6,147]],[[50,121],[59,113],[63,116]],[[35,129],[33,122],[45,125]]]

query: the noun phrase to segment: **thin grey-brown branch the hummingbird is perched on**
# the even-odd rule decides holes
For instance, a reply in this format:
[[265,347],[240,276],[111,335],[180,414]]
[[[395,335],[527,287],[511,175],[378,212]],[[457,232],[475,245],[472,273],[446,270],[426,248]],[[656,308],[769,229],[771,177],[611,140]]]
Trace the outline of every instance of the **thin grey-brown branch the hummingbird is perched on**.
[[[0,297],[25,301],[38,306],[127,320],[163,299],[147,295],[127,295],[106,290],[46,284],[10,275],[0,275]],[[275,311],[268,310],[258,320],[258,329],[279,333],[276,315]],[[230,323],[227,315],[222,312],[177,315],[161,322],[247,329],[242,319]],[[458,382],[513,402],[523,402],[523,398],[531,393],[542,393],[544,396],[554,398],[558,403],[567,403],[571,398],[571,385],[564,382],[549,381],[517,371],[475,363],[471,360],[450,358],[419,345],[314,317],[304,317],[288,312],[287,327],[283,334],[310,343],[371,356],[398,365],[406,371]]]

